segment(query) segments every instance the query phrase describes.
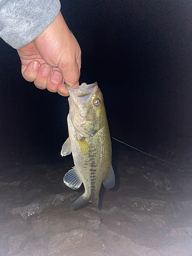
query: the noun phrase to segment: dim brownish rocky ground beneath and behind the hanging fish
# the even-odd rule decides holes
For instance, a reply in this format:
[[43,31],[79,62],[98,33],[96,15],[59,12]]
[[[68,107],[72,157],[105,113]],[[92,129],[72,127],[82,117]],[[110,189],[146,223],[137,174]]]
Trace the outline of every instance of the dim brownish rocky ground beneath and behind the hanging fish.
[[[163,153],[162,153],[163,152]],[[1,256],[191,256],[192,151],[159,148],[168,162],[130,148],[114,155],[114,189],[101,189],[101,209],[71,210],[83,193],[68,188],[66,157],[38,164],[2,156]]]

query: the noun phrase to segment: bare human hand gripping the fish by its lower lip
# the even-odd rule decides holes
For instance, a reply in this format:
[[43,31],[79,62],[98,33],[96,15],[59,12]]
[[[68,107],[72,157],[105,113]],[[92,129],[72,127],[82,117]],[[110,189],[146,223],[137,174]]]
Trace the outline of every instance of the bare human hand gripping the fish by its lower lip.
[[34,81],[37,88],[68,96],[62,80],[78,87],[81,50],[60,12],[39,36],[17,52],[23,77]]

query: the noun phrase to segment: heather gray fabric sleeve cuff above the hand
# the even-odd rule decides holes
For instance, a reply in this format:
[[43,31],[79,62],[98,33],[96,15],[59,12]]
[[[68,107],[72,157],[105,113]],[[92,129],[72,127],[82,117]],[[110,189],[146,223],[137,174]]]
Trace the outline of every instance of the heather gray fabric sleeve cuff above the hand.
[[59,11],[59,0],[0,0],[0,37],[13,48],[22,48],[45,30]]

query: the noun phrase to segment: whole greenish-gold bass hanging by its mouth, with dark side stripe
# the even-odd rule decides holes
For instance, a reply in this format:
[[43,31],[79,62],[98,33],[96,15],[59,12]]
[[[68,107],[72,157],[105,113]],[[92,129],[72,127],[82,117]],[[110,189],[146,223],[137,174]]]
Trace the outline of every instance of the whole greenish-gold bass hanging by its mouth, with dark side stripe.
[[61,156],[72,153],[74,167],[63,177],[72,189],[84,185],[84,193],[72,205],[78,208],[88,202],[98,207],[99,191],[115,185],[112,167],[111,137],[103,95],[97,82],[82,83],[78,89],[64,82],[69,93],[67,117],[69,138],[62,145]]

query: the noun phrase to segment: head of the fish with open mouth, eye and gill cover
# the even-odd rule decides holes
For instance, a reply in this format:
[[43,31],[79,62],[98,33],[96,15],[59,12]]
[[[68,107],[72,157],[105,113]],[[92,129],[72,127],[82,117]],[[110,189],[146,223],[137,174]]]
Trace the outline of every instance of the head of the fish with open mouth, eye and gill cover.
[[69,93],[70,119],[75,130],[83,137],[93,137],[101,127],[103,96],[97,82],[82,83],[73,89],[64,83]]

